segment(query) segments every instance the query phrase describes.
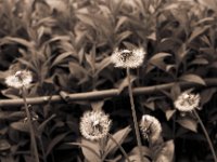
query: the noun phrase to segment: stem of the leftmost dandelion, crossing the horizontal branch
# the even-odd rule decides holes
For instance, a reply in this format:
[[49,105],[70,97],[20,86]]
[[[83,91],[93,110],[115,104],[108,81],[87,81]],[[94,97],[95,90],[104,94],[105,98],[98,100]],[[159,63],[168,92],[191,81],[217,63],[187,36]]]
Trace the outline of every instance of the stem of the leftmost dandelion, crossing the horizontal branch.
[[37,150],[34,126],[33,126],[33,123],[31,123],[31,117],[30,117],[30,112],[29,112],[27,102],[26,102],[26,89],[25,89],[25,86],[22,87],[22,95],[23,95],[24,107],[25,107],[25,111],[26,111],[26,116],[27,116],[27,123],[28,123],[29,132],[30,132],[30,144],[31,144],[33,151],[34,151],[35,162],[39,162],[39,156],[38,156],[38,150]]

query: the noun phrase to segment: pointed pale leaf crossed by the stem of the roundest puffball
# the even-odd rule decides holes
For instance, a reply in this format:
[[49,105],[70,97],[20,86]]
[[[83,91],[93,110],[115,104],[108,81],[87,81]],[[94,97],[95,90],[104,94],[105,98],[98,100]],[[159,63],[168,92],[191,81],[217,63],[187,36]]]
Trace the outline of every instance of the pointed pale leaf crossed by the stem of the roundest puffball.
[[[130,131],[131,129],[129,126],[119,130],[113,135],[113,138],[116,139],[119,145],[122,145]],[[105,146],[105,154],[114,154],[117,148],[117,145],[112,139],[108,139],[107,145]]]

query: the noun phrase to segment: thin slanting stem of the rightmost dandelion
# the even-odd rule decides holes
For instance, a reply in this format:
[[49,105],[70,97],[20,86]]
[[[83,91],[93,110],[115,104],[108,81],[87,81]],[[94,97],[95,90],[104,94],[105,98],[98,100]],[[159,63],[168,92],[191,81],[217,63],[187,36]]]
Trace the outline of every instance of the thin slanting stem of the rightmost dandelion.
[[206,139],[207,139],[208,146],[209,146],[209,148],[210,148],[210,151],[212,151],[214,161],[217,162],[216,152],[215,152],[214,146],[213,146],[213,144],[212,144],[212,140],[210,140],[209,136],[208,136],[208,133],[207,133],[207,131],[206,131],[206,129],[205,129],[205,126],[204,126],[204,124],[203,124],[203,122],[202,122],[202,120],[201,120],[199,113],[196,112],[196,110],[193,110],[193,113],[194,113],[195,117],[197,118],[199,123],[201,124],[201,127],[202,127],[202,130],[203,130],[203,132],[204,132],[204,135],[206,136]]

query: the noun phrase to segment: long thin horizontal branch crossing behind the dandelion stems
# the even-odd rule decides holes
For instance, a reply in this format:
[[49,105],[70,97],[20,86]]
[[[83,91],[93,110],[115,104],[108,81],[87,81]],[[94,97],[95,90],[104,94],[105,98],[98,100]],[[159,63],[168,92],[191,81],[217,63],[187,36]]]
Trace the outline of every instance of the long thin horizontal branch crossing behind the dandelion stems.
[[[217,86],[217,78],[213,79],[205,79],[206,86]],[[176,82],[177,83],[177,82]],[[165,83],[159,85],[152,85],[152,86],[140,86],[135,87],[132,90],[133,95],[142,95],[142,94],[153,94],[161,91],[166,91],[171,89],[171,86],[175,84],[175,82],[171,83]],[[192,82],[179,82],[180,86],[182,89],[188,87],[203,87],[204,85],[195,84]],[[60,103],[60,102],[78,102],[78,100],[91,100],[91,99],[100,99],[100,98],[108,98],[108,97],[115,97],[119,95],[128,95],[128,92],[124,92],[119,94],[118,89],[111,89],[111,90],[103,90],[103,91],[93,91],[93,92],[84,92],[84,93],[74,93],[66,95],[65,98],[63,98],[61,95],[53,95],[53,96],[41,96],[41,97],[30,97],[26,98],[27,103],[29,105],[39,105],[39,104],[48,104],[50,103]],[[18,99],[1,99],[0,100],[0,107],[7,107],[7,106],[22,106],[24,104],[22,98]]]

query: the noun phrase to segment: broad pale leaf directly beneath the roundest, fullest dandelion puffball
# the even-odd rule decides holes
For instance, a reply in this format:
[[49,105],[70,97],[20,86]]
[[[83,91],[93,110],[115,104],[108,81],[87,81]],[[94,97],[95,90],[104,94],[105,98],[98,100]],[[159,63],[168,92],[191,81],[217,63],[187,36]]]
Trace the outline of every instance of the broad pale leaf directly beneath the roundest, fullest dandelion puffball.
[[[90,141],[85,138],[81,139],[81,150],[85,156],[85,158],[89,162],[101,162],[100,159],[100,148],[99,148],[99,143],[98,141]],[[87,147],[84,147],[87,146]],[[91,149],[90,149],[91,148]]]

